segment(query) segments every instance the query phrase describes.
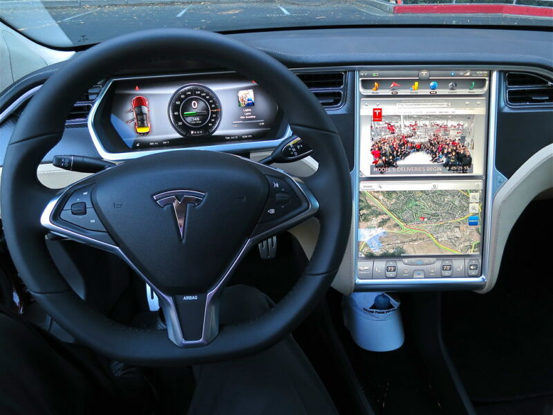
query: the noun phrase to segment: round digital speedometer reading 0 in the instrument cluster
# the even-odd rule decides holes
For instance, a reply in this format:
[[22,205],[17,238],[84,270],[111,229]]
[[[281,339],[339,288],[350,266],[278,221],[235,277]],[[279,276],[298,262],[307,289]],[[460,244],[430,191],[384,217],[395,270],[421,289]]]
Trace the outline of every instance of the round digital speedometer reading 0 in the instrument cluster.
[[221,103],[211,89],[185,85],[169,101],[169,119],[181,136],[209,136],[221,121]]

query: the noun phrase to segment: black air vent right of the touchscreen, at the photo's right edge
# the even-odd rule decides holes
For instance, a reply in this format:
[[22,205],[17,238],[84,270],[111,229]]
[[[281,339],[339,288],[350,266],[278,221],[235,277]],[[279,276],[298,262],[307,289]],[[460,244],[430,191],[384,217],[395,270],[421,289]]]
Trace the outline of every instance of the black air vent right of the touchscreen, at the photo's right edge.
[[553,82],[523,72],[509,72],[506,77],[507,104],[513,106],[553,105]]

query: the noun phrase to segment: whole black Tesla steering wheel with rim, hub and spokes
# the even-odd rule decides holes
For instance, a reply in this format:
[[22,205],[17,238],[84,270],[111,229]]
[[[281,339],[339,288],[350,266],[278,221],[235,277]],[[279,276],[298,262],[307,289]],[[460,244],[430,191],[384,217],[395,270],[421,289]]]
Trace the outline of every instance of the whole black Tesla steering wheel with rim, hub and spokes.
[[[89,85],[145,56],[194,56],[256,80],[312,147],[318,171],[297,178],[232,154],[176,149],[126,161],[61,191],[41,185],[37,166],[61,139],[73,103]],[[339,135],[288,68],[223,35],[162,29],[78,53],[41,87],[6,151],[1,212],[21,279],[66,331],[113,359],[190,365],[266,349],[312,311],[344,255],[352,196]],[[245,253],[312,216],[320,223],[317,245],[288,295],[253,321],[220,327],[221,293]],[[87,306],[53,264],[48,232],[124,259],[158,295],[167,330],[124,326]]]

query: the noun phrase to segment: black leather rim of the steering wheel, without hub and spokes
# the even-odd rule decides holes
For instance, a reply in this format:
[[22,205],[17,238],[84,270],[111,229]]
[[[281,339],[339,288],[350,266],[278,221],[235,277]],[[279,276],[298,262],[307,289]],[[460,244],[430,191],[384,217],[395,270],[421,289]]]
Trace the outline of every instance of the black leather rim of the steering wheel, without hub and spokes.
[[[272,95],[294,133],[312,149],[317,173],[305,178],[319,203],[317,245],[290,293],[269,313],[224,326],[203,347],[177,347],[164,331],[133,329],[89,308],[53,264],[40,216],[56,192],[37,179],[37,166],[62,137],[66,115],[91,84],[144,56],[190,55],[254,79]],[[155,155],[154,155],[155,156]],[[149,156],[145,156],[149,157]],[[1,177],[1,212],[10,254],[41,306],[69,333],[98,353],[141,365],[190,365],[247,356],[290,333],[324,297],[346,249],[352,214],[348,163],[330,117],[288,68],[230,37],[202,30],[131,33],[78,53],[32,98],[10,139]]]

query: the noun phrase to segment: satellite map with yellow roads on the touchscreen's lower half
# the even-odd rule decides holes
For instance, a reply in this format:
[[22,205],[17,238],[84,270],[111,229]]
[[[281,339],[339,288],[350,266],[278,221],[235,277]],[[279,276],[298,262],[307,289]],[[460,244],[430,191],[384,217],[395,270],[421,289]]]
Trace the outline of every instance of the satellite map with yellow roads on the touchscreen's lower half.
[[359,192],[359,257],[480,250],[480,190]]

